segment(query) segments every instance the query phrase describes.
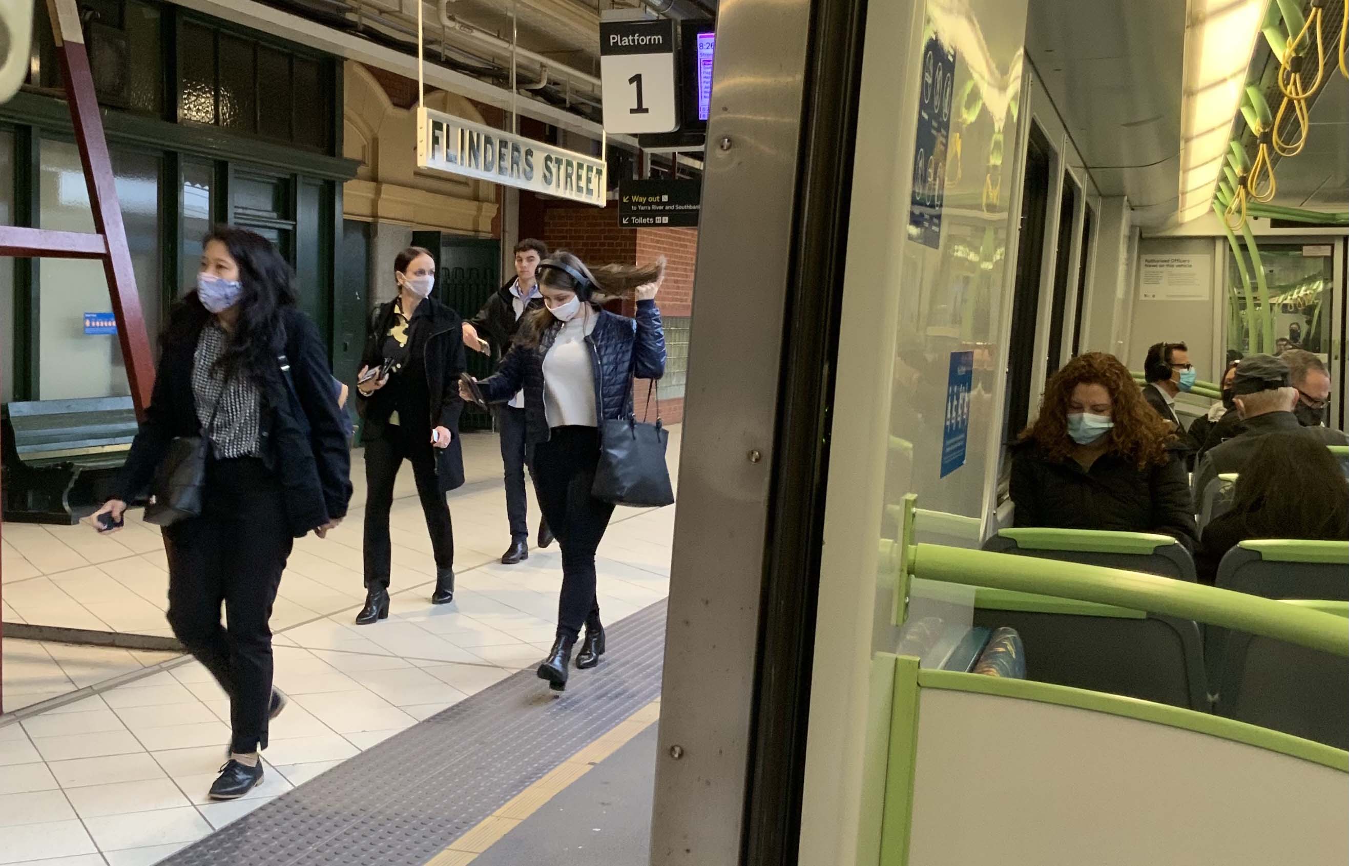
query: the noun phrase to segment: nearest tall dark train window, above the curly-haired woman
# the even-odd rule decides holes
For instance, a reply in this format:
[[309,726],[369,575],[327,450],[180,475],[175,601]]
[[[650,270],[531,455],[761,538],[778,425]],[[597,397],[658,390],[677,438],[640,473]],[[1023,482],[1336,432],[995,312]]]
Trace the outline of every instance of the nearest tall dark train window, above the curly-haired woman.
[[1004,393],[1002,441],[1012,442],[1031,417],[1031,367],[1035,363],[1035,318],[1040,306],[1044,221],[1050,205],[1050,140],[1031,124],[1021,190],[1021,239],[1016,254],[1012,335]]

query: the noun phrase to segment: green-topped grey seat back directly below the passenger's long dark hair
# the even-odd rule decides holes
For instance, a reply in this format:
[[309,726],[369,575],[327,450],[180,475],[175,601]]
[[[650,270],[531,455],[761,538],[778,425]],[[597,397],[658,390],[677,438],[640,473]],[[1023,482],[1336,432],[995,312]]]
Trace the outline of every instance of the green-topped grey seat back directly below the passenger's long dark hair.
[[[1267,599],[1349,602],[1349,541],[1242,541],[1222,557],[1215,585]],[[1205,629],[1203,653],[1209,680],[1219,687],[1219,712],[1228,639],[1226,629]]]

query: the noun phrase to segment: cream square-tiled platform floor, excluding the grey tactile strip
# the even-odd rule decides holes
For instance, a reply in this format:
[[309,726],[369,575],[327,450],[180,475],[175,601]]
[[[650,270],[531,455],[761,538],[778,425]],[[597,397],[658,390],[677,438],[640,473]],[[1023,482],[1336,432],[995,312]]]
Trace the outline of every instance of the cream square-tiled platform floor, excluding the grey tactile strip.
[[[672,471],[677,437],[676,429]],[[451,606],[433,607],[426,598],[433,583],[430,545],[409,471],[399,479],[401,499],[394,507],[395,595],[387,620],[351,625],[363,595],[360,483],[356,507],[336,533],[326,541],[298,544],[274,615],[277,685],[291,696],[291,705],[272,726],[264,753],[267,780],[246,800],[205,801],[228,739],[228,707],[200,665],[166,662],[156,653],[7,641],[11,711],[144,666],[167,669],[18,723],[5,724],[0,716],[0,863],[152,863],[415,720],[536,664],[553,634],[561,576],[557,549],[534,552],[517,567],[496,562],[506,518],[495,437],[465,437],[465,463],[469,483],[451,498],[460,572]],[[599,561],[606,619],[619,619],[666,595],[673,521],[673,509],[615,514]],[[131,622],[121,614],[144,603],[163,627],[166,577],[162,548],[151,530],[138,526],[100,538],[85,527],[23,526],[12,533],[15,526],[4,526],[5,603],[16,587],[31,587],[18,594],[20,607],[7,610],[7,619],[40,622],[30,616],[66,611],[104,623],[84,627],[109,627],[111,620]],[[115,541],[120,550],[109,546]],[[20,564],[11,575],[15,557]],[[27,577],[24,567],[32,569]],[[115,598],[97,600],[100,592]],[[78,627],[61,620],[43,625]],[[150,626],[123,627],[142,631]]]

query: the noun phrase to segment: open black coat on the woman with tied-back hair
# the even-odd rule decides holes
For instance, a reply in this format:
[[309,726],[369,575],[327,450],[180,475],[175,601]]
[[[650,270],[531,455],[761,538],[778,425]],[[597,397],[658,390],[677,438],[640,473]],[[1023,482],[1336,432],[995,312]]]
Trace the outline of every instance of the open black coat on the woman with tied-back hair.
[[[413,340],[420,347],[409,347],[411,353],[424,353],[426,359],[426,388],[430,391],[430,420],[449,430],[449,446],[436,448],[436,478],[441,492],[448,492],[464,484],[464,446],[459,441],[459,415],[464,411],[464,401],[459,397],[459,374],[464,372],[464,325],[459,313],[434,298],[426,298],[430,305],[426,313],[414,314]],[[383,345],[389,335],[394,302],[387,301],[375,308],[370,316],[366,332],[366,351],[362,364],[378,367],[383,363]],[[425,318],[422,318],[425,317]],[[398,375],[398,374],[394,374]],[[370,397],[356,390],[356,409],[366,424],[363,440],[378,440],[389,432],[389,418],[398,409],[394,387],[383,387]],[[432,448],[430,430],[425,430],[426,446]]]

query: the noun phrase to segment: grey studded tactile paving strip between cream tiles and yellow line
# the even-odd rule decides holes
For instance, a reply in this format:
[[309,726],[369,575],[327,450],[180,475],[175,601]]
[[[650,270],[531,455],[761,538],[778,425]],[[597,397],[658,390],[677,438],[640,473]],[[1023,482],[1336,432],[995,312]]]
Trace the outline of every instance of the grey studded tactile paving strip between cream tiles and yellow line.
[[556,693],[522,670],[278,797],[161,866],[422,866],[660,696],[665,602],[608,627]]

